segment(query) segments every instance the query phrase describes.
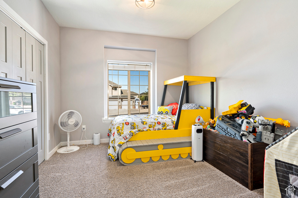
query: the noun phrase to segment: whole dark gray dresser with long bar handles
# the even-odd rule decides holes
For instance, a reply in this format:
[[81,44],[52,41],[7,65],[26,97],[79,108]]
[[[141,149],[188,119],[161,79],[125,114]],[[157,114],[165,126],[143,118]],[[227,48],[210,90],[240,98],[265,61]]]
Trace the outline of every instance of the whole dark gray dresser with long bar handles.
[[0,77],[0,197],[39,197],[36,86]]

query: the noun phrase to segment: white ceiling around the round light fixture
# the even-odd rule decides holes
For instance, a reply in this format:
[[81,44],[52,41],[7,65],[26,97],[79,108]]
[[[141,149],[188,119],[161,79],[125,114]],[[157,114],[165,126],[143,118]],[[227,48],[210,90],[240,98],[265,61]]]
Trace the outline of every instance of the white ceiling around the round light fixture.
[[42,0],[61,27],[189,39],[240,0]]

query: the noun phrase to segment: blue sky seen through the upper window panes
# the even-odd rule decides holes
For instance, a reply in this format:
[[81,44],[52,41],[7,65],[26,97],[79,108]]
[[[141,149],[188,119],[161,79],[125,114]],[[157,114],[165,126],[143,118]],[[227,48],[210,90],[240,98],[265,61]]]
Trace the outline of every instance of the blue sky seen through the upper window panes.
[[[109,80],[122,85],[121,89],[128,89],[128,72],[109,70]],[[148,71],[130,71],[131,92],[142,94],[148,90]]]

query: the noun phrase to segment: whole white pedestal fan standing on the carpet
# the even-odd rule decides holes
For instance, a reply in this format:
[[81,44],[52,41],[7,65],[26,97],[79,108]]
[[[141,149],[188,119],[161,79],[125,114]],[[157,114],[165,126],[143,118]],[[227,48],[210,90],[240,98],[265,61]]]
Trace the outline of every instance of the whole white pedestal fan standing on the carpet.
[[67,147],[58,149],[58,153],[71,153],[79,150],[78,146],[69,146],[69,132],[75,131],[81,123],[82,116],[77,111],[69,110],[60,115],[58,124],[63,131],[67,132]]

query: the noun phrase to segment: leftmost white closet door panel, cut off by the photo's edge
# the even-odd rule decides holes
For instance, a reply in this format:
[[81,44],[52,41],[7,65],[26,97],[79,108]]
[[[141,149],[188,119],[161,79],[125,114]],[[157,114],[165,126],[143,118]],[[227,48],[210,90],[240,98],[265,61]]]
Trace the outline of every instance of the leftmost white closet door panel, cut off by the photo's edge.
[[0,76],[13,78],[12,21],[0,11]]

